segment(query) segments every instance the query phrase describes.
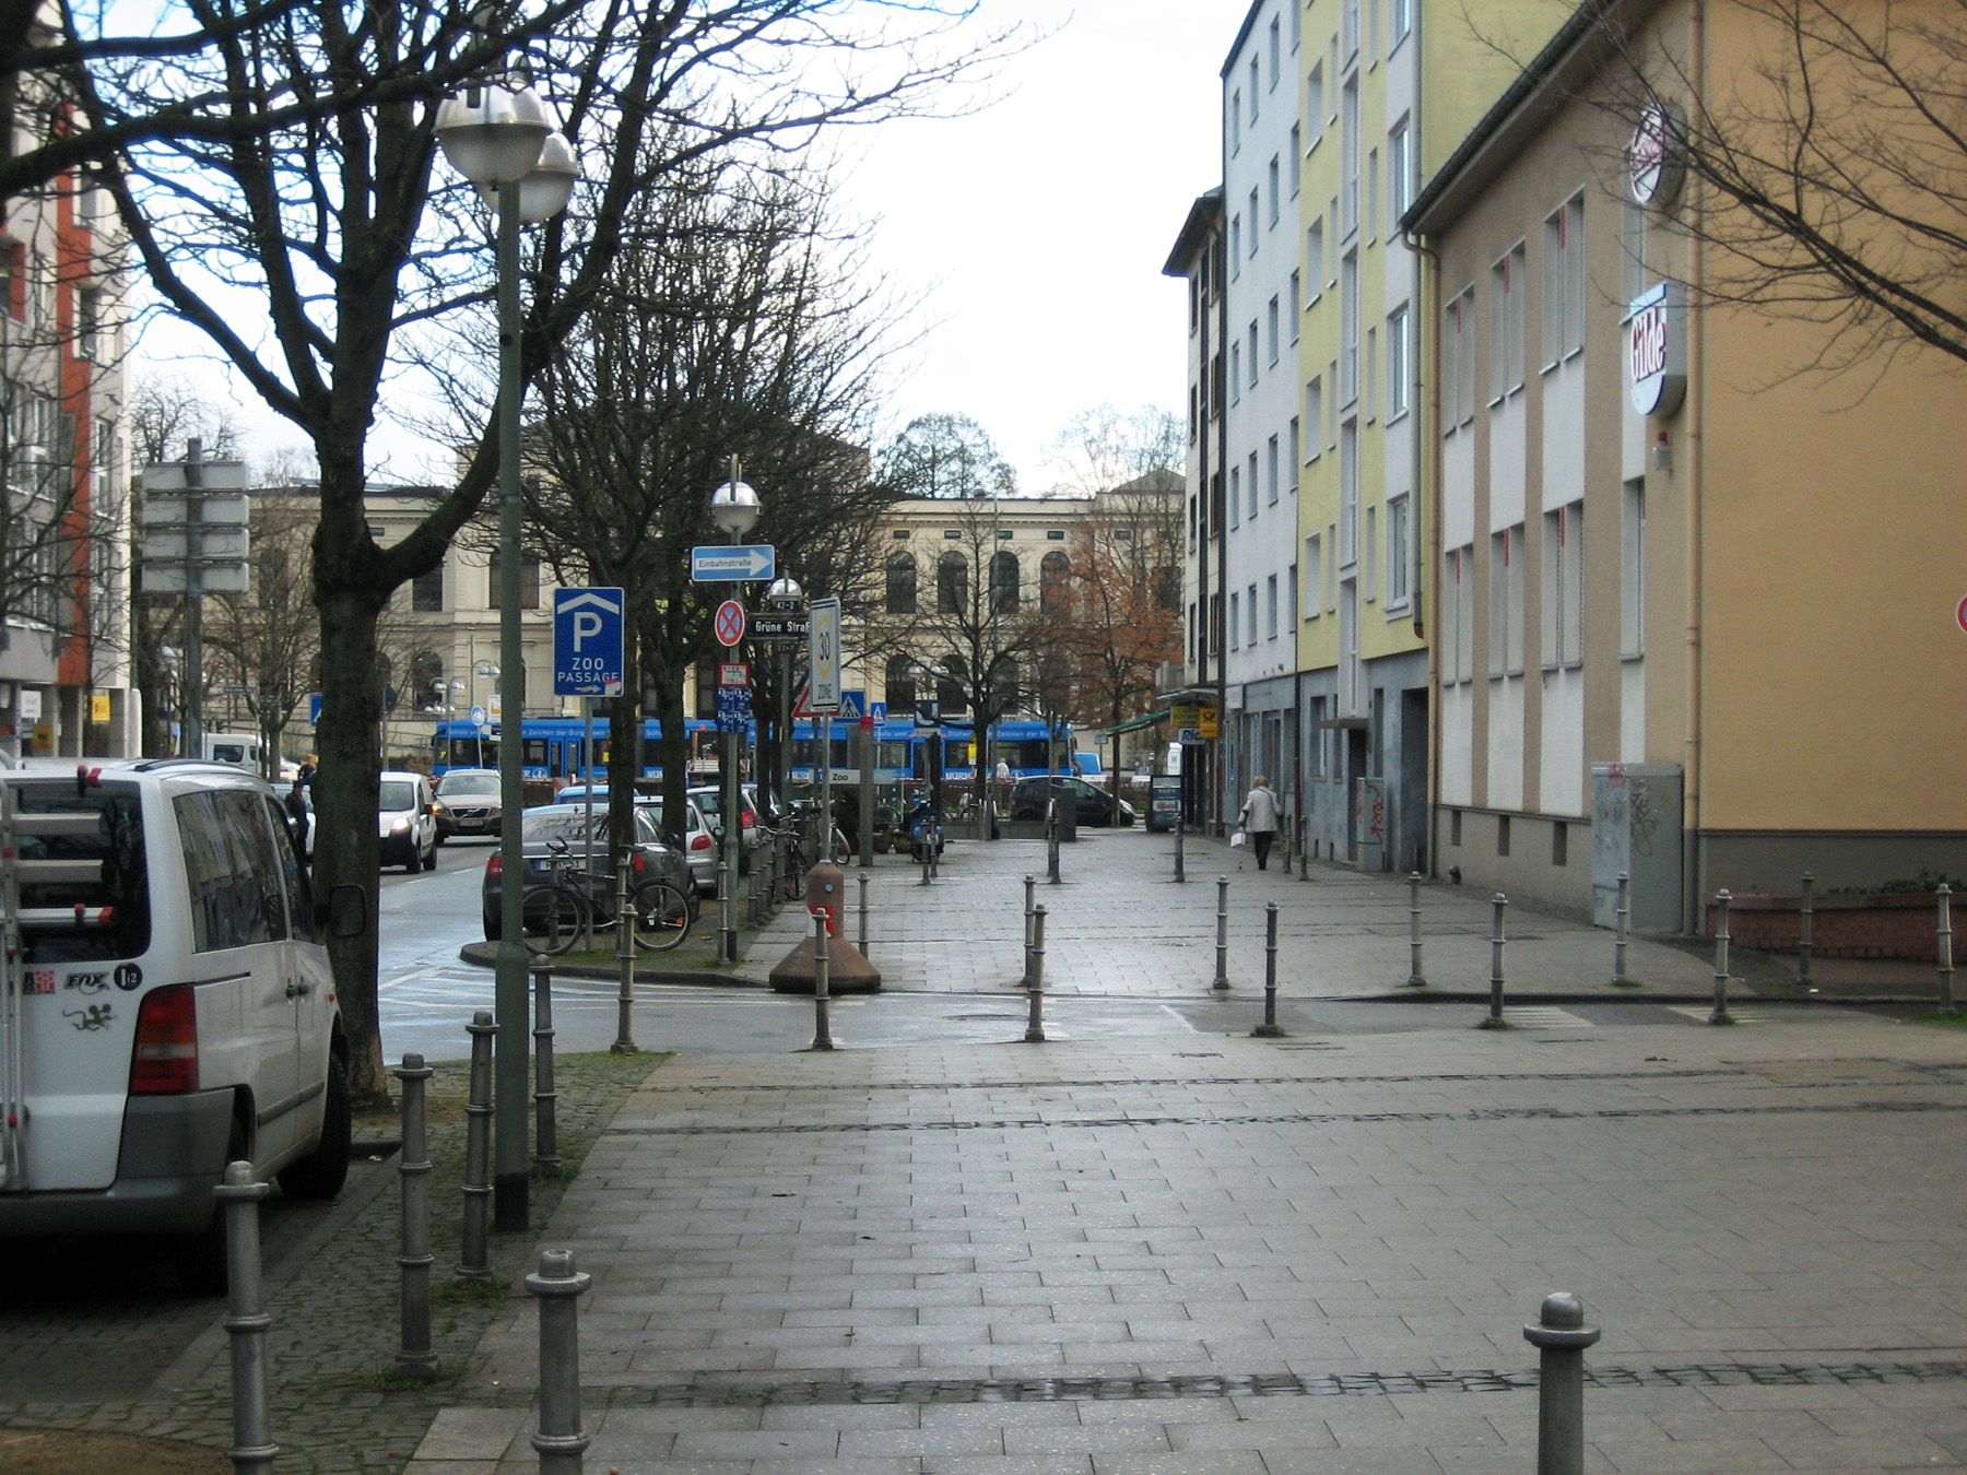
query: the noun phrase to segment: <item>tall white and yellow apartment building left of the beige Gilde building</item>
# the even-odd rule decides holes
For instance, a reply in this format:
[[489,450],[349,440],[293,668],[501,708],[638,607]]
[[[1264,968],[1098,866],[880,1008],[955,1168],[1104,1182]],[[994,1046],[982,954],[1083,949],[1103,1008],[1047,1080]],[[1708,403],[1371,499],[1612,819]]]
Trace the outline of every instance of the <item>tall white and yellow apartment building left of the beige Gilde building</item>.
[[1426,854],[1424,334],[1399,220],[1511,47],[1566,10],[1251,6],[1222,73],[1223,185],[1164,267],[1190,277],[1188,677],[1208,686],[1214,657],[1218,798],[1233,812],[1269,773],[1320,857]]

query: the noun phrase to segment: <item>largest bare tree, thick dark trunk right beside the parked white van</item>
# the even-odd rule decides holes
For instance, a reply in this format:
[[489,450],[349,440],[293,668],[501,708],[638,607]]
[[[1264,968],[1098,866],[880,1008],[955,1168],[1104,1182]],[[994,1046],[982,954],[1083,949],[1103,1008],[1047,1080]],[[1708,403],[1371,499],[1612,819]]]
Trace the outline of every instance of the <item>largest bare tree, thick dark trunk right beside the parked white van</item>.
[[[797,149],[834,122],[928,108],[1001,41],[970,45],[972,6],[893,0],[620,0],[553,4],[527,26],[531,71],[588,148],[576,206],[529,248],[521,378],[576,332],[626,250],[629,206],[669,171],[755,138]],[[498,468],[494,429],[450,496],[407,537],[378,547],[364,511],[368,431],[403,366],[399,336],[435,332],[490,301],[484,212],[462,181],[433,181],[433,102],[504,65],[513,31],[482,33],[476,0],[403,0],[348,12],[216,0],[210,43],[169,65],[77,63],[83,126],[177,110],[167,136],[108,165],[134,250],[171,313],[197,326],[248,385],[309,441],[321,466],[313,586],[323,625],[317,734],[317,869],[325,885],[376,885],[378,618],[395,588],[435,568]],[[661,148],[671,140],[671,148]],[[437,191],[433,195],[433,189]],[[254,305],[271,336],[240,328]],[[386,1090],[376,940],[330,944],[358,1095]]]

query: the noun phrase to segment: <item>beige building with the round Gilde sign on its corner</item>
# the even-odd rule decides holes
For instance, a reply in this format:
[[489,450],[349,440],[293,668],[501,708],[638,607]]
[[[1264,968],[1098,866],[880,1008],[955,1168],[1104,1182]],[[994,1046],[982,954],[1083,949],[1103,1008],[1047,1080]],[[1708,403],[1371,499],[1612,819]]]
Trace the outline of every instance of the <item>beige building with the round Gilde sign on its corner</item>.
[[1623,57],[1672,100],[1772,41],[1741,6],[1587,4],[1406,216],[1438,264],[1438,873],[1609,920],[1625,869],[1672,930],[1719,887],[1967,871],[1967,385],[1904,354],[1863,393],[1796,372],[1821,328],[1690,311],[1699,189],[1625,104]]

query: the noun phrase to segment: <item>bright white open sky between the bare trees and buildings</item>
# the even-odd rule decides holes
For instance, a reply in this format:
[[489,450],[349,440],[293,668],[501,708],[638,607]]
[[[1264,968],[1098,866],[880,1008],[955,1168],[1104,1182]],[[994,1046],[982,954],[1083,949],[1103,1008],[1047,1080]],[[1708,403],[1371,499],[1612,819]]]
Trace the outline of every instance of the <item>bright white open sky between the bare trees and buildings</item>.
[[[1048,446],[1080,411],[1182,407],[1184,287],[1161,266],[1222,173],[1218,67],[1247,4],[982,0],[987,26],[1050,31],[1003,65],[989,106],[836,144],[844,205],[871,220],[871,269],[924,295],[919,342],[893,384],[893,429],[923,413],[970,415],[1037,494],[1054,480]],[[185,334],[151,324],[140,372],[201,354]],[[210,360],[199,372],[224,374]],[[301,444],[250,391],[234,405],[248,458]],[[395,480],[450,464],[387,415],[370,450]]]

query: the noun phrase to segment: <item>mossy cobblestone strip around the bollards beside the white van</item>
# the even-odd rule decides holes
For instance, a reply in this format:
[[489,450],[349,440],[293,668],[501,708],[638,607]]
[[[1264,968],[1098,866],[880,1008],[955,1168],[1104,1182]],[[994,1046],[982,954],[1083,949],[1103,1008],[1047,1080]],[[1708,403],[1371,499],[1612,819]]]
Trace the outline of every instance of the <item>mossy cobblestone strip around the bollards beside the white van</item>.
[[[352,1213],[336,1213],[317,1243],[293,1255],[291,1274],[273,1288],[268,1335],[273,1385],[273,1438],[279,1469],[321,1475],[395,1475],[409,1461],[439,1408],[454,1404],[458,1377],[486,1326],[509,1316],[523,1292],[539,1229],[561,1202],[588,1149],[622,1101],[663,1056],[561,1056],[563,1178],[533,1182],[533,1229],[494,1235],[490,1294],[448,1284],[458,1259],[458,1186],[464,1168],[466,1068],[437,1066],[431,1080],[431,1249],[437,1255],[433,1341],[445,1377],[403,1385],[389,1375],[397,1335],[399,1243],[393,1160],[384,1184]],[[218,1302],[214,1314],[222,1312]],[[203,1365],[201,1357],[203,1353]],[[0,1400],[0,1426],[102,1430],[224,1447],[230,1440],[230,1367],[222,1333],[205,1333],[144,1398]]]

